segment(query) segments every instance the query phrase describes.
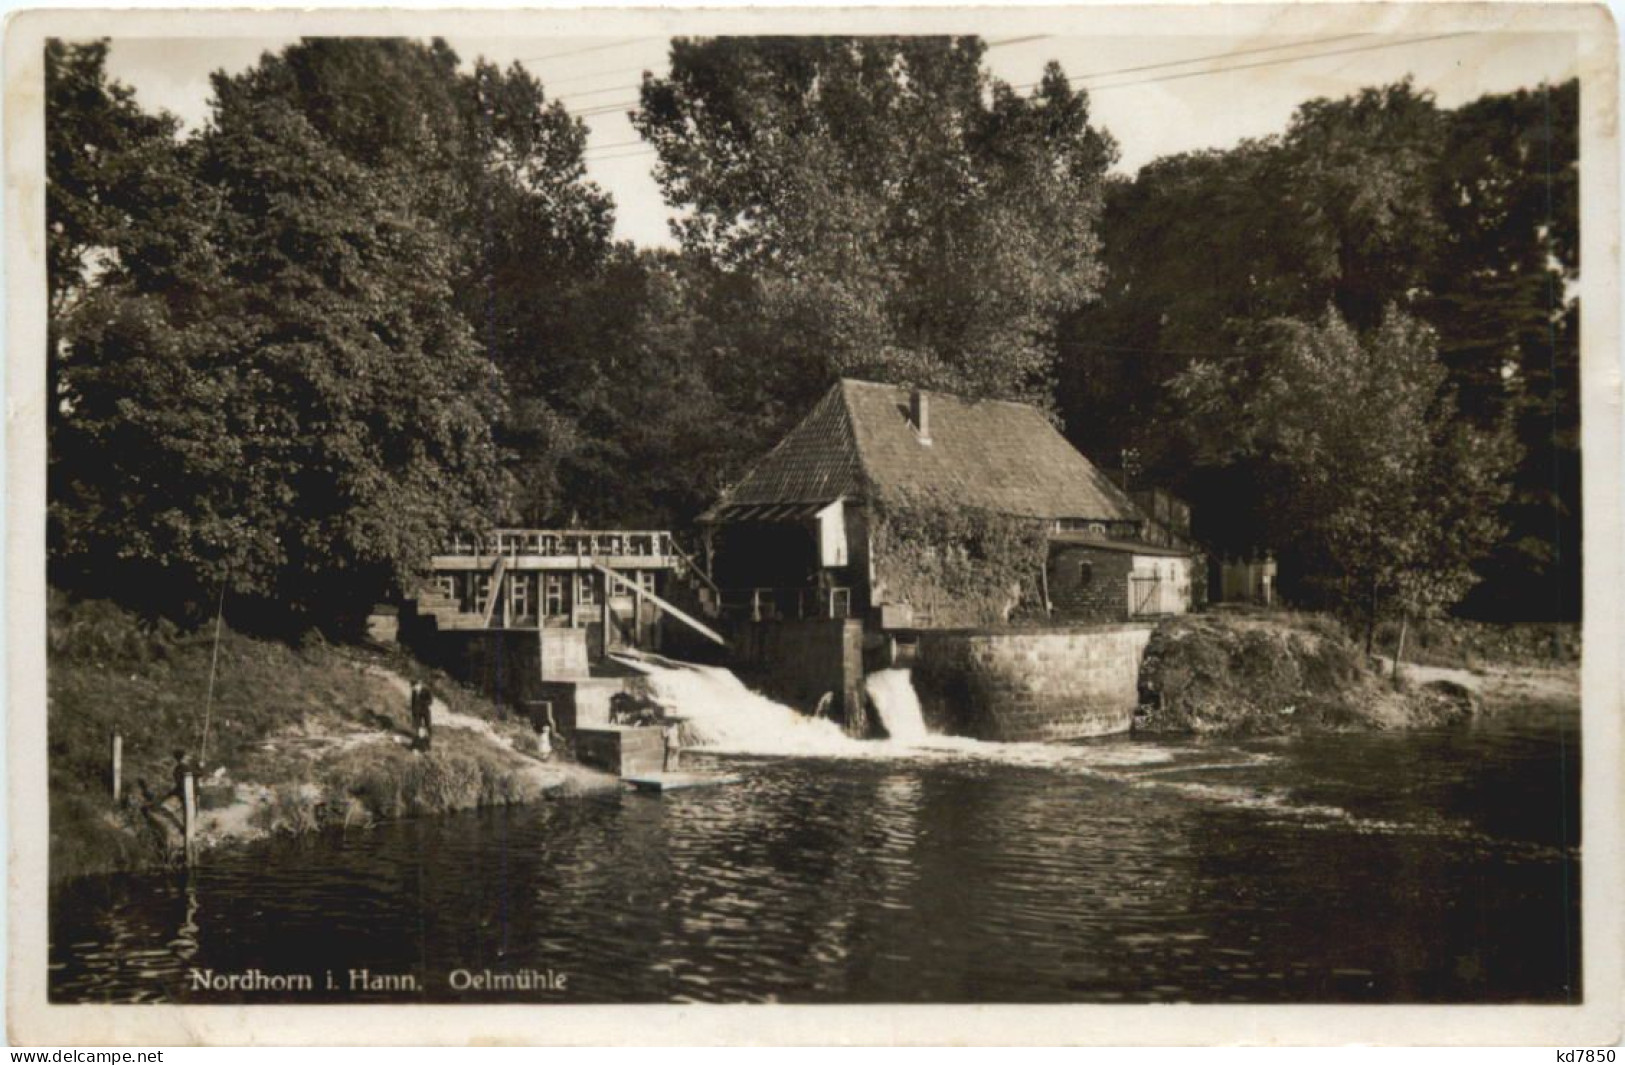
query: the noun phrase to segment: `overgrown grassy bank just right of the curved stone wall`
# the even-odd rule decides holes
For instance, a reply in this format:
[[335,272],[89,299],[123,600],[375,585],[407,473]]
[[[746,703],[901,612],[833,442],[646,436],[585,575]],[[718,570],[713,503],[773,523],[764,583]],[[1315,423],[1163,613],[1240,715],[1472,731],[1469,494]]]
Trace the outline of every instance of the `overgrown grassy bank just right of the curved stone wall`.
[[1146,649],[1141,701],[1136,728],[1198,733],[1417,728],[1480,709],[1462,685],[1396,685],[1334,619],[1289,611],[1165,623]]

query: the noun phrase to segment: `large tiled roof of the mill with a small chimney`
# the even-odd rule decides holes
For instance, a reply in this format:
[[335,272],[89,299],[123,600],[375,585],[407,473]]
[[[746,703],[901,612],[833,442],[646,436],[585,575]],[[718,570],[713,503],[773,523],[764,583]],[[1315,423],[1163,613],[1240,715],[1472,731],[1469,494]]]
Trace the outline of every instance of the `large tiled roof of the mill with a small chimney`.
[[705,515],[834,499],[928,502],[1022,517],[1144,520],[1037,408],[928,392],[931,442],[908,421],[908,389],[842,380]]

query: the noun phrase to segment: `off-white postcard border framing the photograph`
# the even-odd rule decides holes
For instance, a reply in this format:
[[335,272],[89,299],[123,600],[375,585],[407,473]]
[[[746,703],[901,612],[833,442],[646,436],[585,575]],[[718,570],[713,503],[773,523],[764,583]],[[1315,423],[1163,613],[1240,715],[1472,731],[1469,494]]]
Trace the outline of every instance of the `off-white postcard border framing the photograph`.
[[[596,5],[587,5],[595,7]],[[1620,1039],[1622,628],[1617,31],[1602,7],[1222,3],[1027,8],[28,11],[6,26],[8,1034],[13,1044],[1547,1044]],[[523,31],[520,31],[523,24]],[[46,1003],[44,130],[47,36],[1566,33],[1580,42],[1586,623],[1583,1006],[52,1006]]]

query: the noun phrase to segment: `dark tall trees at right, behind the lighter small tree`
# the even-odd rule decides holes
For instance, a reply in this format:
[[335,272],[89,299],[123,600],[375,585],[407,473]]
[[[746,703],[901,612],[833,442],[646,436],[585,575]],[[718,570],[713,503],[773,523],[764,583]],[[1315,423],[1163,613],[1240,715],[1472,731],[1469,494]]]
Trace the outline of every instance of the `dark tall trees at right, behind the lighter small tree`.
[[[1100,304],[1063,325],[1058,402],[1087,454],[1138,457],[1219,553],[1282,546],[1259,455],[1216,457],[1173,389],[1274,358],[1266,324],[1334,307],[1427,322],[1454,413],[1516,441],[1482,610],[1578,611],[1578,83],[1443,111],[1409,83],[1311,101],[1280,135],[1157,159],[1108,189]],[[1399,444],[1396,444],[1398,447]],[[1318,512],[1306,517],[1316,519]],[[1318,527],[1316,527],[1318,528]],[[1284,576],[1328,576],[1315,558]],[[1303,590],[1303,589],[1297,589]]]

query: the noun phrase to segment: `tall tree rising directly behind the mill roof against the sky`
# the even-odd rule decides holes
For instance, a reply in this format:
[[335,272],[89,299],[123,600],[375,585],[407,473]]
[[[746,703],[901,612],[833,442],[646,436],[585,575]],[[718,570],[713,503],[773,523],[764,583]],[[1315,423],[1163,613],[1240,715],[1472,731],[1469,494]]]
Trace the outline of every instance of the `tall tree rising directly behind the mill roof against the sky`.
[[676,234],[769,325],[748,354],[788,367],[757,406],[837,376],[1046,400],[1053,320],[1100,283],[1115,146],[1058,67],[1022,98],[983,50],[679,39],[670,76],[645,80],[634,122]]

